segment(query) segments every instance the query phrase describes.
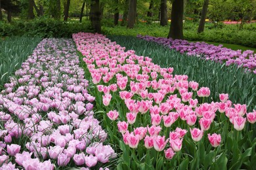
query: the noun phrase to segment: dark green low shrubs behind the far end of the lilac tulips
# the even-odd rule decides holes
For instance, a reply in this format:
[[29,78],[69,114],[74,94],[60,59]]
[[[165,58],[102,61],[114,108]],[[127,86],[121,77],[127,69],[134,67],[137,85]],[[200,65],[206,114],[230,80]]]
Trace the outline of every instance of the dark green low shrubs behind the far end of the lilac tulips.
[[39,37],[72,37],[72,33],[91,32],[89,22],[62,22],[51,18],[31,21],[17,20],[11,24],[0,22],[0,36],[29,35]]

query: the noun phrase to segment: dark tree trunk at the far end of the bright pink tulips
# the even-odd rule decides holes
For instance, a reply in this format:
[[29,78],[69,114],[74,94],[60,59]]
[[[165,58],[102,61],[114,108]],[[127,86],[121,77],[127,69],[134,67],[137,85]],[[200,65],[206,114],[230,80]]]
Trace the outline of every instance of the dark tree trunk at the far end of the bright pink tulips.
[[95,33],[101,33],[100,15],[100,0],[91,0],[90,19]]

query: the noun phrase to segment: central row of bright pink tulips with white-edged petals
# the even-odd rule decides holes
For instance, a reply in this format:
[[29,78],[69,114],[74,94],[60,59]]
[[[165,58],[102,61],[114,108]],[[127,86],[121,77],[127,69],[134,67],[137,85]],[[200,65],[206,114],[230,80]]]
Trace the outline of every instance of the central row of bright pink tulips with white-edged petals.
[[[209,165],[225,167],[226,151],[221,148],[228,147],[226,140],[231,146],[238,143],[243,137],[239,131],[247,120],[249,124],[256,122],[256,110],[247,112],[246,105],[233,105],[225,93],[219,95],[219,102],[204,103],[211,93],[209,88],[188,82],[186,75],[173,75],[173,68],[161,68],[133,50],[125,52],[104,35],[77,33],[73,39],[95,84],[98,109],[105,112],[104,126],[111,141],[123,151],[117,168],[168,169],[187,166],[190,160],[193,169],[200,167],[199,158],[204,156],[209,158],[204,161],[206,169]],[[217,147],[215,152],[205,143]],[[255,140],[250,143],[254,148],[252,143]],[[172,159],[175,154],[177,158]]]

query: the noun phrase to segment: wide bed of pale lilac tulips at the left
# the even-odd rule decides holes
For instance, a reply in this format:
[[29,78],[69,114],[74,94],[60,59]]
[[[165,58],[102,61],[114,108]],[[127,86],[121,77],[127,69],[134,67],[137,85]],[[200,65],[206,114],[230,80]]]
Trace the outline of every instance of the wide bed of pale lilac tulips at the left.
[[89,169],[116,154],[72,39],[43,39],[0,95],[0,169]]

